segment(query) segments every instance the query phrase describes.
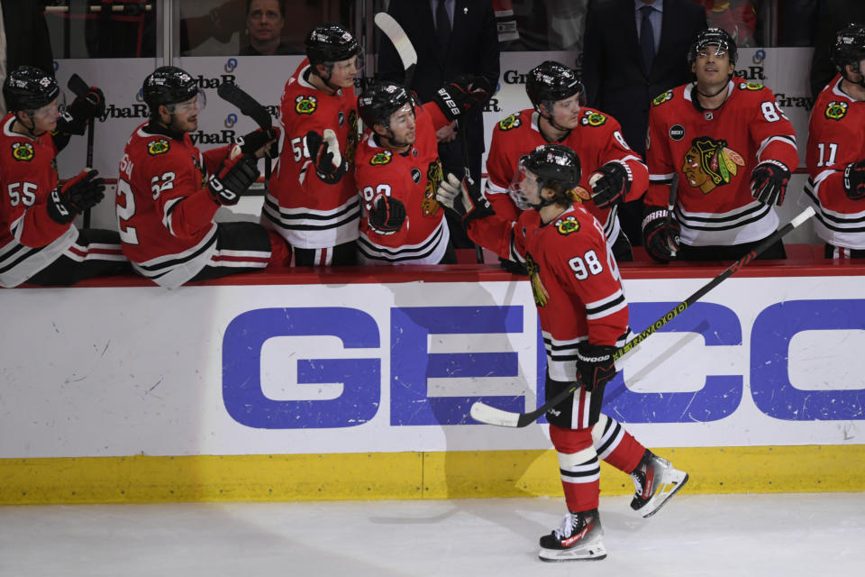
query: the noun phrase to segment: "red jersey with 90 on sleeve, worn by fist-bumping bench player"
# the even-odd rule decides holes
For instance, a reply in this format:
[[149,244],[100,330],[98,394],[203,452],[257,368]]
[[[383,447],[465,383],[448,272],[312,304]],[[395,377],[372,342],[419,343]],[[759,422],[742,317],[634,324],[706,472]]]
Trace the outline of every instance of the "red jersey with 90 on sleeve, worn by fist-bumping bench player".
[[[363,211],[358,251],[364,264],[438,264],[451,236],[444,208],[435,200],[442,161],[435,131],[448,120],[435,103],[415,107],[414,145],[405,154],[381,147],[368,129],[355,156],[355,182]],[[394,234],[369,225],[369,208],[378,195],[405,205],[405,223]]]

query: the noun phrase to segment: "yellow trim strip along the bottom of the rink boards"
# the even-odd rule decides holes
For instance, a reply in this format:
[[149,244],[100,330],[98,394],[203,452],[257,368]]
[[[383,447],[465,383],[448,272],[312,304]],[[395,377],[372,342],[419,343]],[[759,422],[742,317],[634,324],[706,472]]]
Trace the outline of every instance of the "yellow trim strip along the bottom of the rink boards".
[[[865,490],[865,445],[655,453],[686,493]],[[551,450],[0,459],[0,504],[560,497],[558,469]],[[602,495],[633,492],[601,469]]]

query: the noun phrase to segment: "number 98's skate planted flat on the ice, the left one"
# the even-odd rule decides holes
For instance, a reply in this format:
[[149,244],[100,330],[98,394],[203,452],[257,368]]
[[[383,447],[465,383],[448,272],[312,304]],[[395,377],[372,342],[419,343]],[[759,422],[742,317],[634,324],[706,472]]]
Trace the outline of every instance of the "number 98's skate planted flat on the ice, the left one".
[[600,561],[606,557],[597,509],[568,513],[559,528],[541,537],[541,561]]

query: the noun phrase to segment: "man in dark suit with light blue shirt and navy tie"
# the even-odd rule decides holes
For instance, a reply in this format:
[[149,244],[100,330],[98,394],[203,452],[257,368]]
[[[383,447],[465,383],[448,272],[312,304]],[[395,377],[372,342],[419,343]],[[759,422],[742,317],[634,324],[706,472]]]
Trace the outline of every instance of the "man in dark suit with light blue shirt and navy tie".
[[[685,54],[706,28],[692,0],[591,0],[583,39],[587,104],[622,124],[624,140],[645,157],[651,99],[691,80]],[[642,236],[642,200],[620,213],[632,243]]]

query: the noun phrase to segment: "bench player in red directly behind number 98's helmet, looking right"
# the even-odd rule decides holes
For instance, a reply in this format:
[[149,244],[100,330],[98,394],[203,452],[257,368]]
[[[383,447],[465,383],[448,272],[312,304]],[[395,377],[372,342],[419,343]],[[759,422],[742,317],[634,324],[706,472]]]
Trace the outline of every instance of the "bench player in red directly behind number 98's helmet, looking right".
[[515,221],[525,208],[508,196],[520,157],[541,144],[564,144],[583,162],[586,178],[581,189],[591,193],[582,200],[604,225],[616,260],[633,261],[631,243],[616,213],[620,203],[642,197],[649,184],[640,156],[624,142],[615,118],[583,105],[583,85],[567,66],[543,62],[529,72],[525,91],[534,107],[507,116],[493,129],[487,198],[496,214]]

